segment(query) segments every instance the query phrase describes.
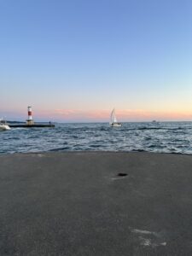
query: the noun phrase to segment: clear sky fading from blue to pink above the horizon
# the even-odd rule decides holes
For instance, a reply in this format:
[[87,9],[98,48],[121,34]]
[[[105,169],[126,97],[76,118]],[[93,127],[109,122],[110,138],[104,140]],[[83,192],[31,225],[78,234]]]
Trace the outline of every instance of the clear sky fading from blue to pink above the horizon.
[[192,120],[191,0],[0,0],[0,117]]

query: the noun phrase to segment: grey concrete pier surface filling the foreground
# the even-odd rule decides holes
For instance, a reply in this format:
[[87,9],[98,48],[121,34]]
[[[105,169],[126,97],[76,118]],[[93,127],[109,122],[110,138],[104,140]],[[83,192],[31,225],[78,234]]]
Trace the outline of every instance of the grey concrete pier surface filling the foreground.
[[0,202],[0,255],[192,255],[192,155],[1,155]]

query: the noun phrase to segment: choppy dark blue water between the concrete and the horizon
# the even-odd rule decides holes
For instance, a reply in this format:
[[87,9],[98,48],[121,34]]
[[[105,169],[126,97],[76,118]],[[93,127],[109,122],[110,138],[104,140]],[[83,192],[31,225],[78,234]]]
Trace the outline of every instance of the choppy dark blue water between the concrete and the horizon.
[[0,154],[104,150],[192,154],[192,122],[56,124],[0,132]]

